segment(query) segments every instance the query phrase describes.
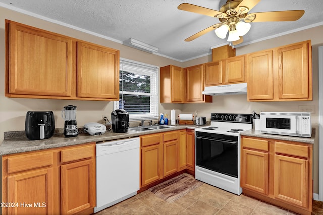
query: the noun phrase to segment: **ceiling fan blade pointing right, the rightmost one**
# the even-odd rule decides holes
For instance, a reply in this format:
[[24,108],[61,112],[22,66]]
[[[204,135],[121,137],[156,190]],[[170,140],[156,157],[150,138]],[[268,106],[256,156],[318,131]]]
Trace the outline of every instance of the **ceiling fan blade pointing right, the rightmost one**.
[[303,16],[304,10],[270,11],[251,13],[245,17],[246,22],[296,21]]

